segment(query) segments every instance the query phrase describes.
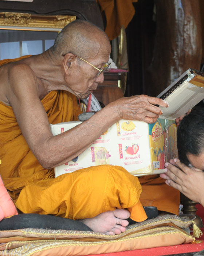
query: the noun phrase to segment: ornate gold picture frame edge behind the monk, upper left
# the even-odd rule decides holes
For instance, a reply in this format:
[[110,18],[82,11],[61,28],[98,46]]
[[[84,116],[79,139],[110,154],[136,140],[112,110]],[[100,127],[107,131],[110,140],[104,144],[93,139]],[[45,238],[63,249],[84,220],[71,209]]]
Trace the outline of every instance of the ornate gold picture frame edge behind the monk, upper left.
[[21,12],[0,12],[0,29],[59,32],[76,19],[71,15],[34,15]]

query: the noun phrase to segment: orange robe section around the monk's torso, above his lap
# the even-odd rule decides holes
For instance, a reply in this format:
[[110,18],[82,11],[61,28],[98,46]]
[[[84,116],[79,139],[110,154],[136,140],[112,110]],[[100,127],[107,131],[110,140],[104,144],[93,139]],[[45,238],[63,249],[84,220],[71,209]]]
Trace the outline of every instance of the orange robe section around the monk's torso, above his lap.
[[[51,124],[78,120],[81,113],[76,97],[66,91],[51,91],[41,102]],[[28,147],[12,108],[2,102],[0,134],[0,175],[12,199],[17,199],[21,189],[33,181],[54,178],[54,170],[44,169]]]

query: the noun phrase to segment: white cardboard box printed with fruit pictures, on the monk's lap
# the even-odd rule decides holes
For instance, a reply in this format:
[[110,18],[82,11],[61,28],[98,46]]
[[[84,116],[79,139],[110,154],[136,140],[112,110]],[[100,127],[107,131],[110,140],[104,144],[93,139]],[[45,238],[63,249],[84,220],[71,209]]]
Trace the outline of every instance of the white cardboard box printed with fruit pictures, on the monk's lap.
[[[80,121],[51,124],[53,135]],[[154,124],[120,120],[78,157],[55,167],[55,177],[95,165],[119,165],[135,176],[164,172],[164,163],[177,157],[176,124],[160,116]]]

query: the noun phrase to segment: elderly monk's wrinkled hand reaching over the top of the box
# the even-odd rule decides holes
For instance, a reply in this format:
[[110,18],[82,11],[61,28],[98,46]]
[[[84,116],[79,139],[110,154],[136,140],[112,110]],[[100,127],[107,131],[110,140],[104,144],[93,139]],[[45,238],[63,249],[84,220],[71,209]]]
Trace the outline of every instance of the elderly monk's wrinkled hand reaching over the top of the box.
[[150,124],[155,123],[162,114],[161,108],[155,105],[168,107],[166,101],[147,95],[124,97],[114,103],[120,119],[138,120]]

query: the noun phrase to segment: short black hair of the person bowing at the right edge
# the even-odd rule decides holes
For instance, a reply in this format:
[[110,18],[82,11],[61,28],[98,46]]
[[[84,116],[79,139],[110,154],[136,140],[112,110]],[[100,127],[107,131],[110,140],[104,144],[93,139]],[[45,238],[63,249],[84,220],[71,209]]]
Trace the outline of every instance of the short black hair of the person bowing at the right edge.
[[177,129],[178,158],[189,165],[187,154],[204,153],[204,108],[195,107],[180,122]]

